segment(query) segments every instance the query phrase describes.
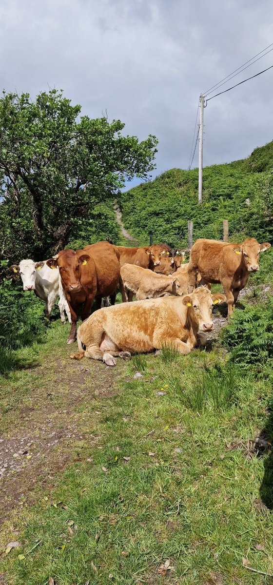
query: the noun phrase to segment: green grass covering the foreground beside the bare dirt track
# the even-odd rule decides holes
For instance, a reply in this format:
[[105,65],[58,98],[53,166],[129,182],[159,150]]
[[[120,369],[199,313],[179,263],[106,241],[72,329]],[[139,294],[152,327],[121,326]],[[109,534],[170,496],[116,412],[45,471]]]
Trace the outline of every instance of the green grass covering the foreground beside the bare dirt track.
[[[37,392],[42,398],[43,388],[52,388],[56,417],[70,400],[71,379],[88,368],[81,401],[65,408],[96,441],[81,441],[81,460],[47,483],[38,479],[32,504],[25,500],[4,526],[2,542],[18,529],[23,545],[2,558],[6,582],[46,585],[51,576],[57,585],[264,583],[242,559],[272,573],[272,514],[253,505],[269,477],[270,456],[247,451],[268,423],[266,383],[230,373],[216,348],[175,360],[164,353],[119,360],[112,394],[100,397],[113,370],[86,359],[71,362],[66,329],[54,324],[43,346],[20,352],[43,368]],[[56,370],[57,357],[65,376]],[[136,368],[140,380],[133,380]],[[35,369],[3,378],[5,432],[11,424],[18,432],[21,403],[33,404],[37,380]],[[157,394],[161,388],[164,395]],[[204,391],[200,406],[191,389],[199,397]],[[260,543],[264,550],[255,549]],[[157,569],[166,559],[175,570],[163,579]]]

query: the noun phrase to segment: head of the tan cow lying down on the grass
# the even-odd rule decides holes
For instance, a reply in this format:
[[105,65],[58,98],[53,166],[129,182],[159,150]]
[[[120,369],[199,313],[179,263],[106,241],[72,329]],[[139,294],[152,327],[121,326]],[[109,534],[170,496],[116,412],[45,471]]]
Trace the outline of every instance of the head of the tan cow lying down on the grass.
[[191,320],[198,325],[199,331],[212,331],[212,308],[222,301],[226,301],[223,294],[211,294],[206,287],[196,288],[192,294],[182,297],[182,303],[188,307]]

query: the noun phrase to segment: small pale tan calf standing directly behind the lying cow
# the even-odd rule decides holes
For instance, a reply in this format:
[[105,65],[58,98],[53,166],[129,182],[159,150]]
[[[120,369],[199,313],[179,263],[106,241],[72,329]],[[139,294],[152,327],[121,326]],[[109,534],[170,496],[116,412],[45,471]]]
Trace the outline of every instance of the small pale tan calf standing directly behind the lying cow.
[[136,295],[137,301],[144,301],[146,298],[164,297],[165,295],[177,294],[177,287],[180,287],[177,278],[156,274],[153,270],[123,264],[120,269],[125,292],[128,301],[133,300]]

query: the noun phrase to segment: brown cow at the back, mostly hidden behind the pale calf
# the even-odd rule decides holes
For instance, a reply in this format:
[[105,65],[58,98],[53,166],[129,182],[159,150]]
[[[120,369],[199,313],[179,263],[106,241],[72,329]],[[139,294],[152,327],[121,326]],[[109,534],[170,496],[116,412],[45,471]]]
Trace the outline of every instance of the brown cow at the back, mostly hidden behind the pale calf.
[[142,248],[126,248],[125,246],[115,246],[120,253],[120,266],[123,264],[136,264],[141,268],[149,268],[154,270],[161,261],[161,257],[165,257],[166,250],[161,246],[144,246]]

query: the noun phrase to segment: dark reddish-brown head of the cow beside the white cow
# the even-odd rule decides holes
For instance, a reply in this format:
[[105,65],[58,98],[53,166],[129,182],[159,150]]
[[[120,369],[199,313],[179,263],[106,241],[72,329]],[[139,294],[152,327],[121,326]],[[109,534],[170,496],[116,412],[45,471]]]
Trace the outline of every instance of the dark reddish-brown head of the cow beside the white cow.
[[84,250],[61,250],[46,263],[52,270],[59,269],[61,282],[68,292],[77,292],[82,288],[81,267],[88,264],[89,260],[90,256]]

